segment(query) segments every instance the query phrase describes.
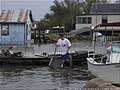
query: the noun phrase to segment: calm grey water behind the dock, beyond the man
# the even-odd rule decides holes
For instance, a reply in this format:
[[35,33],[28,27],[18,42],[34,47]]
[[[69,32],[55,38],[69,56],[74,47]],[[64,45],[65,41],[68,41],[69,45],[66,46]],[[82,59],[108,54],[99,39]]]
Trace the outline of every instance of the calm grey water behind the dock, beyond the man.
[[[70,48],[70,51],[88,51],[88,48],[90,51],[93,51],[92,43],[90,42],[83,42],[80,43],[72,43],[72,47]],[[44,45],[34,45],[34,53],[54,53],[55,44],[44,44]],[[96,43],[96,54],[103,54],[105,51],[105,48],[101,46],[100,42]],[[59,48],[57,48],[57,52],[59,52]]]

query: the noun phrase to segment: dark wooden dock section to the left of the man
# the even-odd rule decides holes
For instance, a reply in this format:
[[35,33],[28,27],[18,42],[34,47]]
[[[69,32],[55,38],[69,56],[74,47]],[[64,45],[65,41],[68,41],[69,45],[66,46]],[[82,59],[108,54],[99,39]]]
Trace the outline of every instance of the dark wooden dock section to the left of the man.
[[35,64],[35,63],[48,63],[49,57],[0,57],[0,63],[4,64]]

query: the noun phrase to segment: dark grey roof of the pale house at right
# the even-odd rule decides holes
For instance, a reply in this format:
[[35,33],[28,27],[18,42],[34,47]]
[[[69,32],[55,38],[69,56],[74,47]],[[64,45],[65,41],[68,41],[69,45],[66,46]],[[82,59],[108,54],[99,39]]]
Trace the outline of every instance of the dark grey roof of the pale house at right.
[[90,14],[119,14],[120,15],[120,4],[106,4],[97,3],[91,7]]

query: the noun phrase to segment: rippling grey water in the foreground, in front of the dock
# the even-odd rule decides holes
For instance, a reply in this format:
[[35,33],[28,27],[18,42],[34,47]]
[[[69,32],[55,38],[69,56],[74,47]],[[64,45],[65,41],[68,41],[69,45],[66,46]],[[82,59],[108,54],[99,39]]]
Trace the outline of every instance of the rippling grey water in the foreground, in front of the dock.
[[[53,71],[41,66],[2,66],[0,90],[81,90],[86,80],[80,80],[80,69]],[[75,78],[76,77],[76,78]]]

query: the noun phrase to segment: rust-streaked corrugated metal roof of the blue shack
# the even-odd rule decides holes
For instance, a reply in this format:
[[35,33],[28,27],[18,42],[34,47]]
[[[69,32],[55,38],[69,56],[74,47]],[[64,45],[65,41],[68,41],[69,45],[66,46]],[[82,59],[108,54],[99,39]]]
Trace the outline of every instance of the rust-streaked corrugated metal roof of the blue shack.
[[27,22],[28,10],[2,10],[0,22]]

